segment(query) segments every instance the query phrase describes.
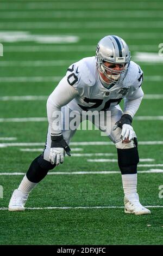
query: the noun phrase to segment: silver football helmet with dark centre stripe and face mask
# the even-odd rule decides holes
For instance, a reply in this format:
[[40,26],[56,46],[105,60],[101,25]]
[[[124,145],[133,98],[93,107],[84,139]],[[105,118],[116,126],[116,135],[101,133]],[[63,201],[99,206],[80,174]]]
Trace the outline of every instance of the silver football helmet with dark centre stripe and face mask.
[[[103,73],[110,83],[123,81],[127,74],[131,59],[126,42],[117,35],[107,35],[102,38],[96,48],[96,64],[99,72]],[[106,67],[105,62],[120,64],[121,70]]]

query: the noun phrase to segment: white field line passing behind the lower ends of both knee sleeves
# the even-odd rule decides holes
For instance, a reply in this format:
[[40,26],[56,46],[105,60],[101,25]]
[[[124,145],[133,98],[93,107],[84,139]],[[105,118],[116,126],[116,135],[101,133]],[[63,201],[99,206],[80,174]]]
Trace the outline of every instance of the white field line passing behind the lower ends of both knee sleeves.
[[[162,164],[163,166],[163,164]],[[139,174],[154,174],[154,173],[162,173],[163,169],[149,169],[146,171],[139,171]],[[0,176],[2,175],[25,175],[25,172],[0,172]],[[72,171],[72,172],[48,172],[47,175],[85,175],[85,174],[121,174],[120,171]]]

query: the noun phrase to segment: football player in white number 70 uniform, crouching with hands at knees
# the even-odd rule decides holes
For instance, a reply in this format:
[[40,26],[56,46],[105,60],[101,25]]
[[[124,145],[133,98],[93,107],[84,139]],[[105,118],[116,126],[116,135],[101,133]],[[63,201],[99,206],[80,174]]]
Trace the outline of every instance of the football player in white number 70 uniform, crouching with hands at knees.
[[[30,191],[49,170],[64,162],[65,152],[71,155],[68,145],[77,128],[62,128],[62,124],[67,122],[65,112],[76,111],[80,123],[82,111],[96,110],[111,111],[108,137],[117,148],[124,190],[124,212],[135,215],[151,213],[141,205],[136,189],[139,154],[131,123],[143,98],[143,72],[130,59],[126,42],[117,35],[107,35],[99,41],[96,56],[83,58],[67,69],[66,75],[47,100],[49,127],[45,150],[33,160],[27,174],[14,190],[9,211],[23,211]],[[122,99],[123,111],[118,105]],[[58,111],[62,112],[63,117],[56,119]],[[108,118],[107,115],[105,118]],[[100,123],[95,122],[95,125],[102,130]]]

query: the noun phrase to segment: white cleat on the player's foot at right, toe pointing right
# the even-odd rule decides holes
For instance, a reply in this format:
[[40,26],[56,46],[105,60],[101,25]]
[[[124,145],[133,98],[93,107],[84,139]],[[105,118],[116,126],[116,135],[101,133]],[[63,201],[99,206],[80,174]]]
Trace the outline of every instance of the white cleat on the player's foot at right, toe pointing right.
[[133,213],[135,215],[150,214],[146,207],[142,206],[139,201],[139,195],[130,194],[124,197],[124,212]]

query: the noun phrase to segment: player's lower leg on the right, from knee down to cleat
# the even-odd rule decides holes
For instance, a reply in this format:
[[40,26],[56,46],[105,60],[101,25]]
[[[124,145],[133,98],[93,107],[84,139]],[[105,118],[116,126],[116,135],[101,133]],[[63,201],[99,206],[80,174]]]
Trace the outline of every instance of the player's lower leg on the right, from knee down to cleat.
[[124,190],[124,212],[143,215],[151,213],[142,206],[137,194],[137,164],[139,163],[139,153],[134,141],[115,143],[118,153],[118,165],[122,174],[122,184]]

